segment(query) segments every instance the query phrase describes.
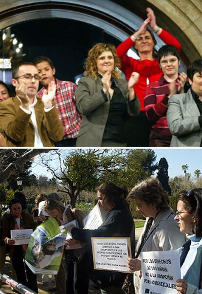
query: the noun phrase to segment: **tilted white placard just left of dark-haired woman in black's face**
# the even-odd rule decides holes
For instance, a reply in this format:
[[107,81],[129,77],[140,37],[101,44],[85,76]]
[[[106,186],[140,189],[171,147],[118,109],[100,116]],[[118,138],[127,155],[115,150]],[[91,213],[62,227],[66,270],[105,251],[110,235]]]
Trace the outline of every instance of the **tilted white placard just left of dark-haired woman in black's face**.
[[85,229],[95,230],[98,229],[102,224],[101,212],[99,205],[97,204],[90,211],[88,215],[83,219],[83,225]]

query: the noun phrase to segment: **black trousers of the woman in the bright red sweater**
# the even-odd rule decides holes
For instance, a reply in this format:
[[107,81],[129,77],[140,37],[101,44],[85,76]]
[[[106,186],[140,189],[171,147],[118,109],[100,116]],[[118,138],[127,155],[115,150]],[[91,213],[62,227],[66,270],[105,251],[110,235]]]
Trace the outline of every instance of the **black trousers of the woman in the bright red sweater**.
[[131,116],[126,123],[127,147],[148,147],[151,124],[145,112],[136,117]]

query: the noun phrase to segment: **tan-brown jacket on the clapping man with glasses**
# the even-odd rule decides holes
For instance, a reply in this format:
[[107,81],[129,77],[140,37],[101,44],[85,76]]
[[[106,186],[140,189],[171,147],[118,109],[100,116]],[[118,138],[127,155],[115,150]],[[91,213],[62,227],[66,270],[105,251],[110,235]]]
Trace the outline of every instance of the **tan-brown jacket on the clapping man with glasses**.
[[[54,142],[60,141],[64,135],[56,107],[45,112],[41,99],[37,98],[35,114],[43,146],[54,146]],[[35,131],[30,117],[31,114],[20,108],[17,97],[0,103],[0,130],[6,136],[8,147],[34,147]]]

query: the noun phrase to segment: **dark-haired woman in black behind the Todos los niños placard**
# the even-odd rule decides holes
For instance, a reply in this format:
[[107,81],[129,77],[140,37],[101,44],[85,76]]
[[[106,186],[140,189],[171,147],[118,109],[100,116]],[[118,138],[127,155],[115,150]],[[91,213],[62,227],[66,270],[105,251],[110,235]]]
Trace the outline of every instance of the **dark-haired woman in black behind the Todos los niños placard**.
[[[96,283],[101,293],[123,293],[121,286],[126,273],[120,273],[116,270],[100,271],[94,270],[93,256],[91,248],[91,237],[130,237],[132,245],[132,256],[135,248],[135,230],[133,217],[122,199],[123,189],[113,183],[103,183],[98,188],[98,204],[107,211],[106,216],[98,229],[82,230],[79,228],[69,229],[73,238],[87,243],[88,252],[81,259],[79,264],[79,273],[77,293],[88,294],[89,278]],[[110,289],[114,287],[113,291]]]

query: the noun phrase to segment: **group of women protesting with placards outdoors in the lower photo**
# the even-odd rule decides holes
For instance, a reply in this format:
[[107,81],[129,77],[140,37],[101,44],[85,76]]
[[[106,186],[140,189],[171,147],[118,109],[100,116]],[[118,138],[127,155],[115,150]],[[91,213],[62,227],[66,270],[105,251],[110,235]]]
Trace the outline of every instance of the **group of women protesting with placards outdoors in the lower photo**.
[[[58,256],[54,253],[60,253],[61,262],[55,276],[57,294],[88,294],[89,279],[101,290],[102,294],[131,293],[127,292],[123,285],[127,276],[132,273],[134,273],[133,293],[141,294],[142,254],[144,252],[152,254],[152,252],[164,251],[172,254],[173,250],[179,248],[181,276],[173,281],[176,292],[172,293],[202,293],[202,290],[200,290],[202,289],[202,189],[180,192],[175,213],[169,206],[168,193],[162,188],[159,180],[155,178],[149,178],[137,184],[127,198],[125,190],[110,182],[103,183],[97,188],[97,197],[97,205],[101,206],[105,214],[102,223],[94,229],[85,228],[85,214],[81,210],[65,207],[57,194],[50,194],[50,198],[49,195],[40,194],[36,201],[33,212],[40,207],[39,203],[43,202],[43,211],[50,217],[49,220],[55,219],[61,231],[65,226],[68,229],[66,241],[62,243],[61,237],[63,234],[60,234],[60,240],[58,239],[60,244],[63,244],[62,251],[65,248],[63,255],[62,251],[59,252],[58,250],[59,246],[57,247],[56,239],[46,240],[40,252],[37,251],[40,247],[39,242],[35,242],[30,250],[35,260],[38,261],[36,268],[39,268],[39,262],[47,256],[43,260],[42,270],[53,260],[54,256]],[[135,200],[137,210],[141,211],[146,218],[136,246],[134,220],[127,204],[132,199]],[[22,209],[23,204],[17,198],[10,201],[9,208],[10,213],[7,213],[1,220],[2,240],[8,247],[18,282],[38,293],[36,274],[32,271],[32,268],[30,270],[27,262],[24,263],[24,259],[27,260],[27,254],[25,255],[25,252],[28,251],[27,245],[15,245],[16,242],[11,237],[11,231],[17,229],[32,229],[34,231],[39,225],[39,221],[40,224],[43,221],[42,218],[39,219],[38,217],[41,212],[38,211],[38,216],[35,216],[34,220],[32,215]],[[40,235],[38,232],[44,232],[45,226],[43,224],[45,225],[49,220],[40,225],[42,227],[40,231],[37,231],[37,235]],[[78,223],[77,226],[76,223],[73,223],[75,220]],[[52,224],[53,228],[56,228],[54,227],[55,223]],[[53,228],[50,228],[50,230],[53,230]],[[115,238],[118,240],[123,237],[128,238],[129,244],[131,244],[131,249],[128,251],[131,252],[130,257],[125,256],[125,264],[129,268],[129,273],[127,274],[128,271],[123,272],[114,269],[96,269],[92,239],[105,238],[109,240]],[[40,237],[37,238],[39,241]],[[117,252],[117,249],[115,249],[115,252]],[[1,260],[1,271],[2,269]],[[172,273],[167,274],[172,276]]]

